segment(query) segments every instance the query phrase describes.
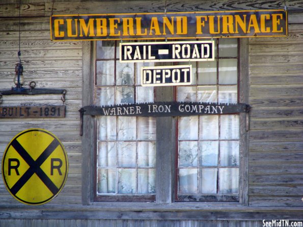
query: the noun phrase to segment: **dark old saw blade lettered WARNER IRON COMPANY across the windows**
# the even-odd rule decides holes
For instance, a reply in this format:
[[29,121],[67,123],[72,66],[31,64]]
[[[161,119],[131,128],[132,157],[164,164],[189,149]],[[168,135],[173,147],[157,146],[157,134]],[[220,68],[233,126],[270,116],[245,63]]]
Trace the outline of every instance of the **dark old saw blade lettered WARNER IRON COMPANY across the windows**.
[[84,106],[80,112],[80,135],[84,115],[123,116],[123,117],[177,117],[194,115],[218,115],[249,112],[250,106],[244,103],[207,103],[207,102],[152,102],[123,103],[104,106]]

